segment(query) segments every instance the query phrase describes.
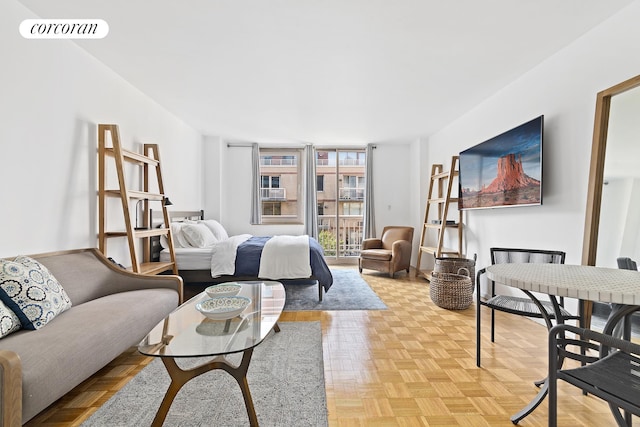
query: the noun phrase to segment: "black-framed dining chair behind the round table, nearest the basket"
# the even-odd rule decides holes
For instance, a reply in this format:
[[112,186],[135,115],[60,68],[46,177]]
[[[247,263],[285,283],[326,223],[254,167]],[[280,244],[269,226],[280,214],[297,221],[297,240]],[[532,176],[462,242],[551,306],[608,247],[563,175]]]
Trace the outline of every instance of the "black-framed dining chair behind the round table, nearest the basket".
[[[504,263],[551,263],[564,264],[566,253],[564,251],[547,249],[519,249],[519,248],[490,248],[491,264]],[[542,319],[538,306],[527,296],[496,294],[496,284],[489,281],[489,297],[481,298],[480,276],[486,272],[481,269],[476,275],[476,365],[480,367],[480,342],[481,342],[481,307],[491,309],[491,342],[495,342],[495,311],[502,311],[519,316]],[[555,311],[550,301],[541,301],[549,319],[555,319]],[[564,308],[564,298],[560,298],[560,311],[563,320],[580,319],[579,315],[572,314]],[[552,325],[547,325],[551,328]]]

